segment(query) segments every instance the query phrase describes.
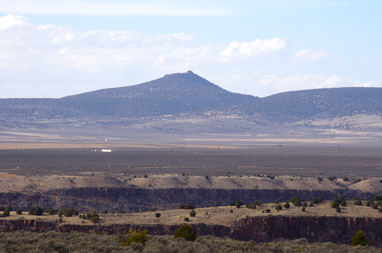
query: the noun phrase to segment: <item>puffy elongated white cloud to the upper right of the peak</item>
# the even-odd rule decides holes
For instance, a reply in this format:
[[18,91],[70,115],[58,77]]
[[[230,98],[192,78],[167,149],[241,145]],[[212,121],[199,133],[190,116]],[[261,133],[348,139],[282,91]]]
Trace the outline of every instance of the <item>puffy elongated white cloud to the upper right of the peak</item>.
[[220,52],[223,62],[231,60],[245,59],[256,57],[262,54],[267,54],[275,51],[280,51],[287,47],[285,39],[273,38],[266,40],[254,40],[251,42],[231,42]]

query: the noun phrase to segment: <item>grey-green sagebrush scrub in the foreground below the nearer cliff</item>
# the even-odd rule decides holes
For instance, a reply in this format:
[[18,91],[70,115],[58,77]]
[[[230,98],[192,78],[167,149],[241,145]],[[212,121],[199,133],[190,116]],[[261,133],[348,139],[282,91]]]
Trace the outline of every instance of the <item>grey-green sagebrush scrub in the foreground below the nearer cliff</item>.
[[195,241],[174,236],[147,236],[145,245],[132,242],[121,245],[126,235],[96,233],[0,233],[1,252],[382,252],[370,246],[309,243],[306,239],[269,243],[235,241],[229,238],[201,236]]

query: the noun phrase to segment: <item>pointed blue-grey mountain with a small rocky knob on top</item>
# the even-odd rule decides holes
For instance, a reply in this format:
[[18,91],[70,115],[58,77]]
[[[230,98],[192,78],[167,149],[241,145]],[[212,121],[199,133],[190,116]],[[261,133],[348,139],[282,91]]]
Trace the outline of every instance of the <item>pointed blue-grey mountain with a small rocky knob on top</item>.
[[93,117],[144,117],[227,108],[257,99],[222,89],[188,71],[138,85],[86,92],[60,101]]

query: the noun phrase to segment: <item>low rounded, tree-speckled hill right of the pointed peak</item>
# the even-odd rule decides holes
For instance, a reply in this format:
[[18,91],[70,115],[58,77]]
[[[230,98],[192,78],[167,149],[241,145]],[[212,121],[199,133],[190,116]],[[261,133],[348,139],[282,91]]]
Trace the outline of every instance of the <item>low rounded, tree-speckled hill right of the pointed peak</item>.
[[244,105],[248,114],[278,114],[290,119],[382,113],[382,88],[346,87],[289,91]]

